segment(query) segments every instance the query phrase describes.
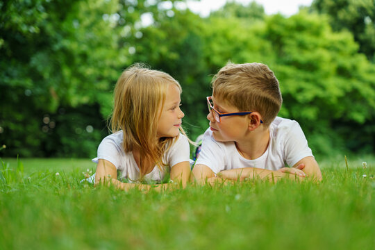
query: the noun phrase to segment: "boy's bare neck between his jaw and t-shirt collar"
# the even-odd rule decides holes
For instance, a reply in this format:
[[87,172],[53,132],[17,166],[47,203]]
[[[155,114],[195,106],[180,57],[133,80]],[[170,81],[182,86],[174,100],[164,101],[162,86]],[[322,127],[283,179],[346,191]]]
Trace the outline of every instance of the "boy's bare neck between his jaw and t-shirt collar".
[[243,140],[235,142],[235,147],[246,159],[255,160],[267,150],[269,144],[269,128],[250,132]]

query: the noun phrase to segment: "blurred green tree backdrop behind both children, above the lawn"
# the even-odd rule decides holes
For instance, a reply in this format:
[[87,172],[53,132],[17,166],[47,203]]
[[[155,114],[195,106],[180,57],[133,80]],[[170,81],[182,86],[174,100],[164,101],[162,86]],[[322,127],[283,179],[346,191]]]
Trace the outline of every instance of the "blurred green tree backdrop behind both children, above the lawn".
[[265,63],[316,156],[375,147],[375,2],[315,0],[290,17],[228,2],[201,17],[183,1],[0,3],[1,157],[92,158],[108,135],[117,78],[133,63],[183,88],[190,138],[208,128],[210,81],[228,61]]

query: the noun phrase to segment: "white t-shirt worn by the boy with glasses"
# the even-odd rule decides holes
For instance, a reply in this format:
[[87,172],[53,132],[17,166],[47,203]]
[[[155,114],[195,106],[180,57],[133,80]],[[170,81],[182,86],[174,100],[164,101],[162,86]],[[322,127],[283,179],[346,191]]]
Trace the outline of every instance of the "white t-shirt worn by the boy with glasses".
[[210,167],[215,174],[222,170],[242,167],[277,170],[285,167],[285,163],[292,167],[306,156],[313,156],[313,153],[299,124],[290,119],[276,117],[269,125],[268,147],[259,158],[244,158],[234,142],[217,142],[208,128],[204,133],[196,164]]

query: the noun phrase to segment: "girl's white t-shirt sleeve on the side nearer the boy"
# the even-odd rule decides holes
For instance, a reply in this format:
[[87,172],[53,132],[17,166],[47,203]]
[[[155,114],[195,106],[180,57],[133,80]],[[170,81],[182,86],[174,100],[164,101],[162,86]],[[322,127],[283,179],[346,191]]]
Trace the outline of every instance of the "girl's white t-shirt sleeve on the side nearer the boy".
[[177,141],[169,149],[168,163],[170,167],[173,167],[177,163],[190,162],[190,146],[188,138],[185,135],[180,134]]

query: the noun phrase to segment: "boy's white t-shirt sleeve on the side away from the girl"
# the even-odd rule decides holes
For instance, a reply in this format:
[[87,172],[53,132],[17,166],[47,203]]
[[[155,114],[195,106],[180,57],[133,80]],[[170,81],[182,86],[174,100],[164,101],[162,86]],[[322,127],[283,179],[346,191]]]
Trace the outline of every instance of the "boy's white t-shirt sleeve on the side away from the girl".
[[292,167],[299,160],[313,156],[313,152],[308,147],[308,141],[298,122],[293,121],[288,133],[285,135],[285,161]]

